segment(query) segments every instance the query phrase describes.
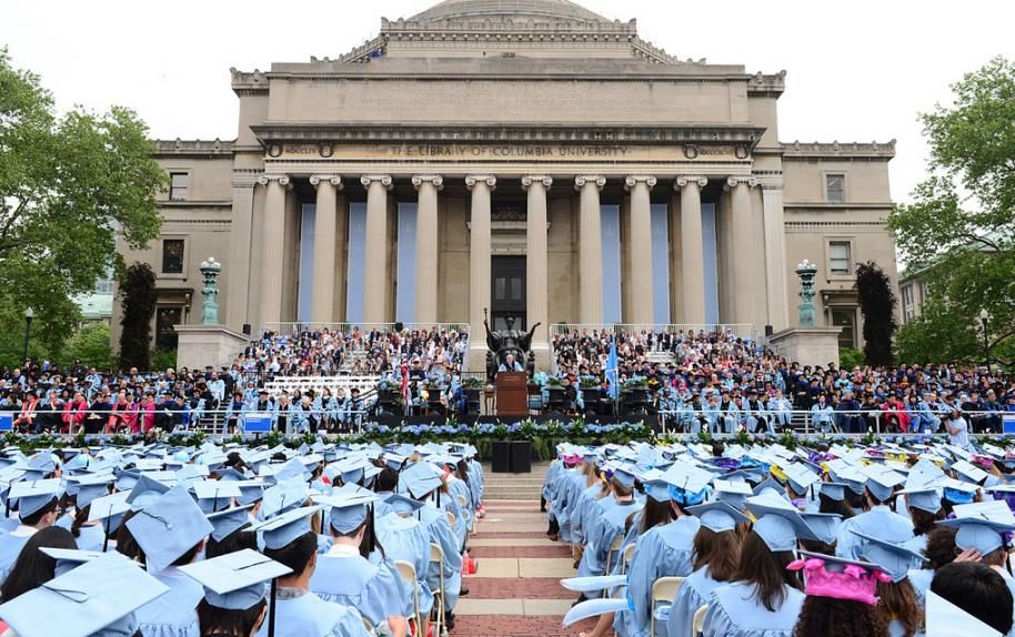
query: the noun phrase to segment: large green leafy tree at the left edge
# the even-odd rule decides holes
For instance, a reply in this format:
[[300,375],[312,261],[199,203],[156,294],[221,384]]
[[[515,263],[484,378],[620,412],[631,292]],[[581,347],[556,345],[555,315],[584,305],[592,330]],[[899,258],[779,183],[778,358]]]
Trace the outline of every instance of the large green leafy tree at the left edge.
[[0,307],[31,305],[50,351],[71,333],[71,299],[158,236],[167,186],[148,128],[122,108],[58,114],[39,78],[0,49]]

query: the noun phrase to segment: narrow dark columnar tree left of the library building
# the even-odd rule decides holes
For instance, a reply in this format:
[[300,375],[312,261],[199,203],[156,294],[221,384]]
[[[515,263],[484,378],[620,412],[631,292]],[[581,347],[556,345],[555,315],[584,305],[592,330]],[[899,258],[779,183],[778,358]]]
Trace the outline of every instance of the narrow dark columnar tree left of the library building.
[[151,318],[155,315],[155,273],[147,263],[134,263],[120,280],[123,307],[120,325],[120,368],[151,371]]

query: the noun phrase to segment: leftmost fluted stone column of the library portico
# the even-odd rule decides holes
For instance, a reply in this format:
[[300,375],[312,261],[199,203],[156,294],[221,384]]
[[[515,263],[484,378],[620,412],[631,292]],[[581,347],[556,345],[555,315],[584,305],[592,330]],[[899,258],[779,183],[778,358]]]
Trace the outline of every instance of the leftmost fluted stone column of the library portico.
[[258,180],[268,188],[264,200],[264,225],[261,244],[261,326],[282,320],[282,260],[285,252],[287,174],[262,174]]

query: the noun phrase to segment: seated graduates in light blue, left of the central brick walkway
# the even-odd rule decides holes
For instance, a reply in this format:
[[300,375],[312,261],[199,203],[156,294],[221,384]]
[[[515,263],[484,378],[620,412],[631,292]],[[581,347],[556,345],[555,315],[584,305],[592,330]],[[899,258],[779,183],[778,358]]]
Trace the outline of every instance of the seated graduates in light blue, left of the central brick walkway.
[[8,452],[0,635],[348,637],[453,628],[468,445]]

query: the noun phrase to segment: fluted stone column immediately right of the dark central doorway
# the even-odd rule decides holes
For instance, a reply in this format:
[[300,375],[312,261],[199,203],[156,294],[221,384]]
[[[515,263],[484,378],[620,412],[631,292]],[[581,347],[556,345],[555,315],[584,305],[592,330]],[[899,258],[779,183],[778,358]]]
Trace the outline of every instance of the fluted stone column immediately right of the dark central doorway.
[[532,352],[536,367],[550,370],[550,304],[547,297],[546,255],[546,191],[553,178],[529,174],[522,178],[522,188],[529,193],[525,253],[525,314],[526,327],[542,323],[532,337]]

